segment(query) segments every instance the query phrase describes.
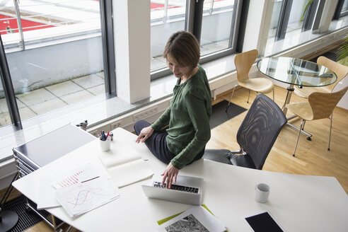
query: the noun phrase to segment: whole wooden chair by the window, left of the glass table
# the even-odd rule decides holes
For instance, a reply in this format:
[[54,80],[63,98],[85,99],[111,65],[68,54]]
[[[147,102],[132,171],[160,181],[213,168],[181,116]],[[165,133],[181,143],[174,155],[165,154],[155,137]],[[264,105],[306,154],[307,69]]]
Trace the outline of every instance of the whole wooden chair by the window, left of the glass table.
[[249,78],[249,71],[251,69],[251,66],[253,66],[254,64],[257,58],[257,55],[258,55],[257,50],[250,50],[248,52],[242,52],[242,53],[236,54],[236,57],[234,58],[234,64],[236,65],[236,69],[237,69],[238,85],[234,86],[233,88],[231,98],[228,101],[226,112],[231,103],[233,93],[237,86],[242,86],[244,88],[249,89],[247,103],[249,103],[250,91],[255,91],[256,93],[269,93],[273,91],[273,100],[274,100],[274,86],[272,81],[263,77],[253,78],[253,79]]

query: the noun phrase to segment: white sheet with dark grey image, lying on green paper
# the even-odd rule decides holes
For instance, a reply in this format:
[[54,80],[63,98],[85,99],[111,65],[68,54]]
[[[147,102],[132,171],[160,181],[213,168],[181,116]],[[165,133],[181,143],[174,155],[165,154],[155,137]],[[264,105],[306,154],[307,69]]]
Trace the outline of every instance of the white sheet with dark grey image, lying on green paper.
[[219,219],[202,206],[191,207],[158,226],[158,231],[204,231],[224,232],[226,227]]

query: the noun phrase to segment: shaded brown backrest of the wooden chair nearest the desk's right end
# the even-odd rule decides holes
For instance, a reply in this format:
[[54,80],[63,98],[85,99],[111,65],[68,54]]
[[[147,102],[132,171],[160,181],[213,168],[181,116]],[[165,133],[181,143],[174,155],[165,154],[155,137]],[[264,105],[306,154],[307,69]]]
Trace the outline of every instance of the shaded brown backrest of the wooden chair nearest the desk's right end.
[[347,90],[348,86],[335,93],[311,93],[311,95],[308,96],[308,102],[311,105],[313,112],[312,120],[320,120],[322,118],[330,117],[337,103],[341,100]]

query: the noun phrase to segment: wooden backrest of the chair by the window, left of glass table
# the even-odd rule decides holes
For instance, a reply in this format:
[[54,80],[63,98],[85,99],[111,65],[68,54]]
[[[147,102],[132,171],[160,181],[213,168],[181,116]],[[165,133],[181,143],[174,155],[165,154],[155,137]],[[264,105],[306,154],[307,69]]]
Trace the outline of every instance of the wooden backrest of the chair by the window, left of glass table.
[[237,69],[238,81],[245,82],[245,80],[249,79],[249,71],[251,66],[253,66],[258,54],[259,52],[257,52],[257,50],[250,50],[248,52],[236,54],[236,57],[234,57],[234,64],[236,65]]

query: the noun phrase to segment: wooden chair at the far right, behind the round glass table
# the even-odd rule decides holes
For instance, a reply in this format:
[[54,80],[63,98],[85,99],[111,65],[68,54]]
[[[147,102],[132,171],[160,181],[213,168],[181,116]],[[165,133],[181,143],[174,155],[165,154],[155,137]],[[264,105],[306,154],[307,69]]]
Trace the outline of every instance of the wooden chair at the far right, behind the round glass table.
[[308,96],[314,92],[331,93],[332,90],[337,85],[337,83],[339,83],[342,79],[344,79],[344,77],[347,76],[347,74],[348,74],[348,66],[334,62],[331,59],[328,59],[326,57],[318,57],[317,64],[323,65],[323,66],[329,68],[330,70],[334,71],[335,74],[337,75],[337,81],[335,83],[332,83],[329,86],[323,86],[323,87],[298,88],[298,86],[295,86],[294,93],[296,93],[296,95],[298,95],[302,98],[308,98]]

